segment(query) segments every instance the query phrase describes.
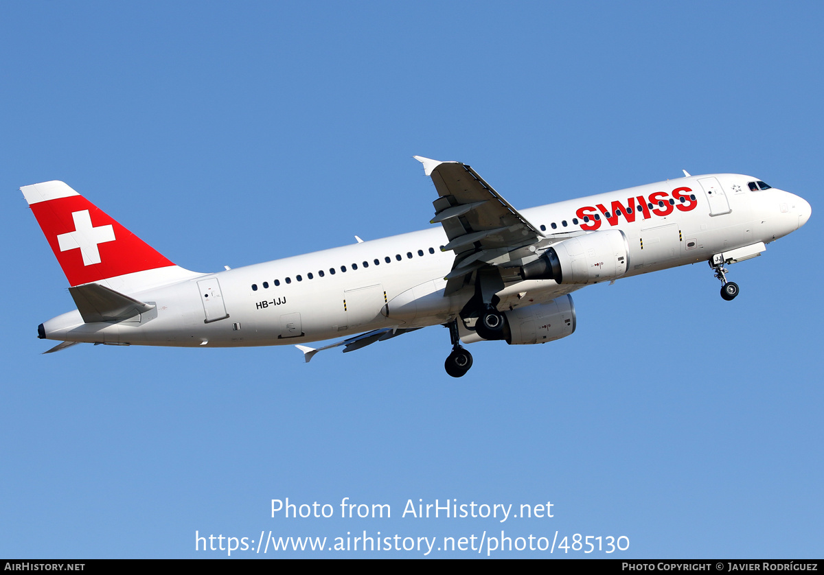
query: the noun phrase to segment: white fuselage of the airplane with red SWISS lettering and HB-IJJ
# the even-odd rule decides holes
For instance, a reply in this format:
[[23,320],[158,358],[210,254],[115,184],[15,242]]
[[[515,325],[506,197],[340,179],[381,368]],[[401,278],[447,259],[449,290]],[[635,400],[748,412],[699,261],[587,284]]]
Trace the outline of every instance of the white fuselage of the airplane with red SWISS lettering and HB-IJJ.
[[[780,189],[751,191],[747,184],[753,180],[733,174],[691,176],[551,203],[522,214],[548,236],[620,229],[629,245],[628,277],[766,244],[807,221],[806,201]],[[442,278],[455,259],[452,251],[440,250],[445,244],[447,237],[438,226],[218,273],[166,278],[158,270],[157,283],[166,285],[136,292],[110,278],[107,283],[114,289],[156,308],[133,320],[90,324],[72,311],[45,322],[45,337],[232,347],[302,344],[391,326],[443,324],[473,295],[470,290],[442,296]],[[128,278],[122,285],[129,285]],[[512,282],[498,292],[498,307],[503,311],[548,302],[579,287],[553,280]],[[405,310],[410,302],[419,302],[413,306],[417,311],[384,316],[382,308],[396,298],[406,304]]]

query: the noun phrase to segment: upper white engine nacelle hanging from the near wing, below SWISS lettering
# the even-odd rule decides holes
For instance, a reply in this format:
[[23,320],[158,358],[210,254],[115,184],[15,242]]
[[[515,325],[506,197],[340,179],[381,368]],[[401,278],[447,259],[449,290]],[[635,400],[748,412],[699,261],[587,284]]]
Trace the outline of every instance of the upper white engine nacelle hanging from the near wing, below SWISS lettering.
[[630,245],[620,230],[593,231],[559,241],[529,264],[524,279],[554,279],[556,283],[598,283],[620,278],[630,269]]

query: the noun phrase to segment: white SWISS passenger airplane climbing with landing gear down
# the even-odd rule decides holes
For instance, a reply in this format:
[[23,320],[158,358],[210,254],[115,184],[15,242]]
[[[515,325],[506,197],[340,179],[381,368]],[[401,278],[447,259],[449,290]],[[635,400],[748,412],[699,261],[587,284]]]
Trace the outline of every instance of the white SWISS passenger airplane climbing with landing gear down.
[[[461,377],[461,344],[545,344],[575,331],[571,293],[639,273],[761,255],[802,227],[810,204],[749,175],[690,175],[521,211],[456,161],[414,157],[438,192],[424,231],[197,273],[166,259],[60,181],[21,191],[65,273],[77,309],[45,321],[52,353],[107,345],[294,344],[306,362],[443,325]],[[344,337],[321,348],[306,344]]]

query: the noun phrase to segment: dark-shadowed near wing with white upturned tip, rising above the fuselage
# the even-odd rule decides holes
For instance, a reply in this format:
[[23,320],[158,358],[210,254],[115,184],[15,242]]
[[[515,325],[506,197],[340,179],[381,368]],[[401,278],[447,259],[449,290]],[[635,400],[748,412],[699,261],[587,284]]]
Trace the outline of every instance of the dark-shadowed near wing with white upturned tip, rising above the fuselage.
[[510,252],[547,237],[470,166],[414,158],[424,164],[424,172],[438,190],[438,199],[433,202],[435,217],[430,223],[440,223],[447,232],[449,241],[442,250],[455,252],[455,264],[447,275],[447,293],[461,287],[468,274],[496,265]]

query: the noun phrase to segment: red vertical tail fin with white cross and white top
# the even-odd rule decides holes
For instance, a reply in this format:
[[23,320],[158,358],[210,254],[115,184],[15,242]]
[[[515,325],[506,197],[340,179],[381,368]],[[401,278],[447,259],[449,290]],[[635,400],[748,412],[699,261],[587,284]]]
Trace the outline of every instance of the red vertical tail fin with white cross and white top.
[[175,265],[63,182],[21,192],[73,286]]

